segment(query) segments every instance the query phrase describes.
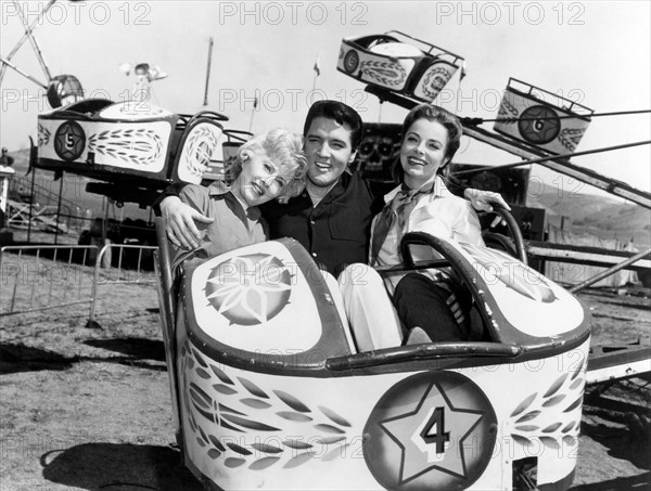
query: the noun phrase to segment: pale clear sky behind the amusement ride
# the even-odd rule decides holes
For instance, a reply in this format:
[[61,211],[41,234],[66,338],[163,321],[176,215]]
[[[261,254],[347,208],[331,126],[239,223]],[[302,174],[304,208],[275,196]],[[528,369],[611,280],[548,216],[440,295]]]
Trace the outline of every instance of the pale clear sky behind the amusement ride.
[[[13,2],[0,1],[0,53],[24,29]],[[44,1],[18,4],[31,24]],[[342,39],[399,30],[464,57],[435,103],[460,116],[495,118],[510,77],[562,94],[596,113],[651,109],[651,2],[240,2],[60,0],[35,34],[52,75],[73,74],[89,95],[125,101],[135,77],[120,64],[158,65],[153,101],[177,113],[212,109],[228,128],[302,131],[311,101],[337,99],[366,121],[400,122],[406,111],[363,92],[336,70]],[[203,105],[208,40],[214,38],[207,106]],[[318,60],[320,75],[314,66]],[[31,46],[12,62],[46,80]],[[37,115],[50,111],[36,83],[8,70],[2,86],[0,141],[28,146]],[[258,107],[253,101],[258,98]],[[33,99],[34,98],[34,99]],[[492,124],[483,125],[492,129]],[[651,115],[596,117],[577,151],[647,141]],[[464,138],[457,161],[507,164],[512,155]],[[573,163],[651,190],[649,145],[575,157]],[[592,193],[571,178],[533,166],[549,189]]]

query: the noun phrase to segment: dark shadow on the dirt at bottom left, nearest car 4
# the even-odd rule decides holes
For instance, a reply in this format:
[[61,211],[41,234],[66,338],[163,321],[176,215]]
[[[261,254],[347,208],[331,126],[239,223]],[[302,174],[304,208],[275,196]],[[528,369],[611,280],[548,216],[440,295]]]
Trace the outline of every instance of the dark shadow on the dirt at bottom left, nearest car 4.
[[41,455],[43,478],[87,490],[203,491],[168,447],[85,443]]

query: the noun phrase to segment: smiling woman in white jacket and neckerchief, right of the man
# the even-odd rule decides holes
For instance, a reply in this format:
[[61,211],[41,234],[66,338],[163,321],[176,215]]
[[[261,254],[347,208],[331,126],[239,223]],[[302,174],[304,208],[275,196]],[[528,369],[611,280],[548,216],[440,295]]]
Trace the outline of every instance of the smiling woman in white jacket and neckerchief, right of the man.
[[[407,232],[484,245],[472,206],[446,188],[461,134],[459,119],[442,107],[421,104],[407,115],[394,169],[400,185],[385,196],[384,209],[373,219],[371,267],[403,263],[399,244]],[[424,248],[413,247],[412,254],[414,260],[434,257]],[[340,285],[361,351],[404,344],[417,326],[433,341],[467,338],[454,282],[443,273],[393,273],[383,281],[372,268],[352,264],[340,276]]]

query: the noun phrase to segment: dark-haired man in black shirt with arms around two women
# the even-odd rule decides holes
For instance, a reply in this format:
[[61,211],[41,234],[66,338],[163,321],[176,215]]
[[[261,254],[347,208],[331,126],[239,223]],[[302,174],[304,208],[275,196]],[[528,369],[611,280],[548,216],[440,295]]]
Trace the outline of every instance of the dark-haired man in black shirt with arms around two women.
[[[372,181],[347,171],[362,132],[361,117],[346,104],[312,104],[303,134],[308,166],[305,190],[286,204],[269,202],[260,210],[269,223],[271,238],[295,238],[336,277],[347,264],[367,262],[371,221],[384,207],[384,195],[395,183]],[[176,197],[181,188],[182,184],[168,188],[156,205],[166,219],[171,243],[194,248],[202,237],[194,221],[210,223],[212,219]],[[487,199],[496,199],[492,194],[472,196],[475,207],[485,208]]]

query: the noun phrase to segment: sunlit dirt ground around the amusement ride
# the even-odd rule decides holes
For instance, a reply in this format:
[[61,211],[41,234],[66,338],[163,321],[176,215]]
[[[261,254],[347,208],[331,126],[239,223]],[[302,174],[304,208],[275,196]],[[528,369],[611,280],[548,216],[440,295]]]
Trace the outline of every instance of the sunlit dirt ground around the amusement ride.
[[[3,283],[2,305],[10,294]],[[618,294],[582,295],[595,343],[649,334],[650,292]],[[97,297],[101,328],[87,327],[88,303],[0,316],[0,490],[201,490],[173,443],[154,284]],[[588,390],[573,490],[651,490],[648,384]]]

